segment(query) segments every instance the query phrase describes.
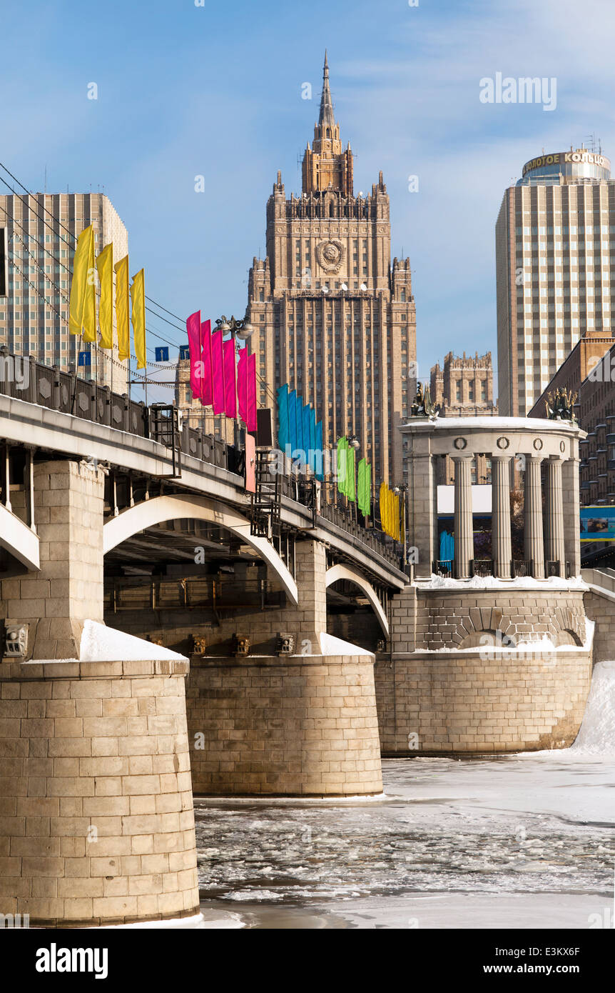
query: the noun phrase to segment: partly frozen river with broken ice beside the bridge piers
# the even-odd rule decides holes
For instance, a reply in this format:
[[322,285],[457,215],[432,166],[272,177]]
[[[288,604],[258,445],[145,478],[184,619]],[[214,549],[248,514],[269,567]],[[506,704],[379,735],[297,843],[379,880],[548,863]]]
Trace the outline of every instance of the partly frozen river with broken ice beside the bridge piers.
[[203,908],[261,927],[613,927],[601,715],[564,752],[385,760],[381,798],[197,800]]

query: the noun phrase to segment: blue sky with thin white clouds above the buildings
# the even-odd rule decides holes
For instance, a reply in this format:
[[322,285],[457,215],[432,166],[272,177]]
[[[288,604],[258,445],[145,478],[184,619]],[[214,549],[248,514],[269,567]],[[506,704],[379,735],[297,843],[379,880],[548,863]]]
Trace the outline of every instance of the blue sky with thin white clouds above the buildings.
[[[242,317],[277,171],[301,191],[326,47],[355,192],[383,171],[392,256],[411,258],[420,376],[449,351],[495,363],[505,188],[543,149],[592,134],[615,160],[615,4],[412,3],[0,0],[0,161],[33,192],[47,176],[48,193],[106,193],[163,307]],[[554,109],[481,102],[496,72],[554,77]],[[151,345],[184,343],[148,321]]]

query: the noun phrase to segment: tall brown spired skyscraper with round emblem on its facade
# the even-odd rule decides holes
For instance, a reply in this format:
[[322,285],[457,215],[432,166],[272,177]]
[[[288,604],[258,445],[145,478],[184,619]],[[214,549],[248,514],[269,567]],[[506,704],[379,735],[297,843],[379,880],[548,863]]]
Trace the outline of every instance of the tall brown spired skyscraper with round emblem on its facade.
[[382,173],[371,194],[353,193],[352,152],[350,143],[342,147],[333,114],[326,55],[302,194],[287,200],[278,173],[266,244],[248,290],[259,402],[272,406],[274,387],[288,382],[314,405],[325,448],[356,434],[374,482],[403,482],[398,424],[416,389],[410,259],[391,260]]

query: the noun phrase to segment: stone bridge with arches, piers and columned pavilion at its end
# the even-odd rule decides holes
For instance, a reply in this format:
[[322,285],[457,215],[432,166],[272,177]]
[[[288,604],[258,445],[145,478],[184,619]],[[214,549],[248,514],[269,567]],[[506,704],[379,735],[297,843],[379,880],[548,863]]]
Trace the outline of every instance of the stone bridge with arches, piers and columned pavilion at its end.
[[[193,792],[374,794],[381,752],[561,747],[578,730],[591,670],[583,598],[605,645],[615,595],[578,576],[574,499],[572,511],[547,501],[545,558],[559,577],[511,579],[498,469],[497,563],[481,586],[466,575],[460,459],[459,578],[453,564],[431,570],[435,458],[455,456],[460,438],[497,458],[505,431],[511,452],[530,445],[535,458],[538,439],[574,463],[577,429],[494,418],[479,437],[452,419],[418,424],[408,479],[420,560],[407,576],[401,547],[307,474],[273,475],[259,450],[252,493],[240,439],[173,418],[38,363],[27,390],[0,382],[0,913],[58,926],[190,917]],[[552,496],[558,480],[550,466]]]

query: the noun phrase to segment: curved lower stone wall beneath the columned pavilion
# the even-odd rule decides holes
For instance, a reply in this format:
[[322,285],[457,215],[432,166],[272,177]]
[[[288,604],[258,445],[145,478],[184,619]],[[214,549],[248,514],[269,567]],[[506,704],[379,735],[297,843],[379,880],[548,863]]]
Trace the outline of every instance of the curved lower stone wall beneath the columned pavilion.
[[590,653],[559,648],[547,655],[482,654],[414,652],[377,660],[383,755],[471,755],[572,744],[589,692]]

